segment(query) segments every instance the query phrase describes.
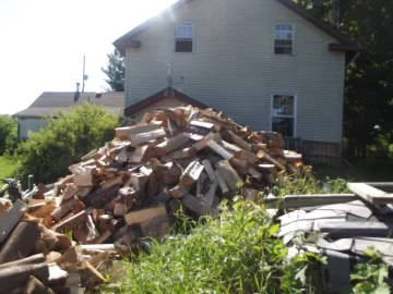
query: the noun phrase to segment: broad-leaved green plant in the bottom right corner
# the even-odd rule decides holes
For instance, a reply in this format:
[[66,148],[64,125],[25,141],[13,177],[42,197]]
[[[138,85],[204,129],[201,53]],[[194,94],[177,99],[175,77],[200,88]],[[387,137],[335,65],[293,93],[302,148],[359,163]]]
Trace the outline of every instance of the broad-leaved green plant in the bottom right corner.
[[355,265],[354,272],[350,274],[353,286],[348,286],[345,292],[350,294],[391,293],[386,283],[389,275],[388,265],[381,260],[380,253],[374,247],[368,247],[365,254],[370,258],[370,261]]

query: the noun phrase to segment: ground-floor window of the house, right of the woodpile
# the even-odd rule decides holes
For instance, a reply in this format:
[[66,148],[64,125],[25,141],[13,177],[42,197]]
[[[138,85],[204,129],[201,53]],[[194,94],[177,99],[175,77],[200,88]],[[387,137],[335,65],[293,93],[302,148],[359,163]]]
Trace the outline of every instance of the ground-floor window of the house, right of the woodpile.
[[273,95],[272,131],[285,137],[295,136],[296,96]]

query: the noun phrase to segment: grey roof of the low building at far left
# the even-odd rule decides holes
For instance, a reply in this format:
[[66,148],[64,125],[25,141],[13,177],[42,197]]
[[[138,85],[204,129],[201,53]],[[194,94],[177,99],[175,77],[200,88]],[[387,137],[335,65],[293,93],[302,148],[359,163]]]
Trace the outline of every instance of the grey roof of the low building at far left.
[[100,94],[96,98],[96,93],[80,93],[80,97],[74,102],[74,91],[44,91],[28,108],[13,114],[15,118],[41,118],[53,117],[61,110],[70,112],[72,107],[90,101],[92,105],[105,107],[114,114],[120,114],[124,108],[124,93],[109,91]]

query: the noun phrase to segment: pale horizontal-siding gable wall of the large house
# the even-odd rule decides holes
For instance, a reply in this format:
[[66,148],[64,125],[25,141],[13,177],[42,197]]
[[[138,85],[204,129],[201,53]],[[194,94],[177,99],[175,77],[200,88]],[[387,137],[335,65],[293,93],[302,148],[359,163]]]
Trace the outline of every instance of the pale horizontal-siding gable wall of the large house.
[[[176,23],[193,23],[194,52],[175,52]],[[274,24],[295,24],[294,56],[274,54]],[[297,97],[296,136],[341,142],[344,52],[336,40],[276,0],[194,0],[140,33],[127,49],[126,107],[167,86],[253,130],[271,128],[272,94]]]

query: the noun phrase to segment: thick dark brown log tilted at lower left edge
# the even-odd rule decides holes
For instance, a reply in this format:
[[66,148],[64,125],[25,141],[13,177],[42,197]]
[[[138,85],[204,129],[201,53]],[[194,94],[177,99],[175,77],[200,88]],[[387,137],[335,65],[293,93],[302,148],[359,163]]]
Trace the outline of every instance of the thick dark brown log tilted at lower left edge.
[[0,264],[10,262],[27,257],[39,237],[37,225],[21,222],[12,232],[9,240],[4,243],[0,252]]

